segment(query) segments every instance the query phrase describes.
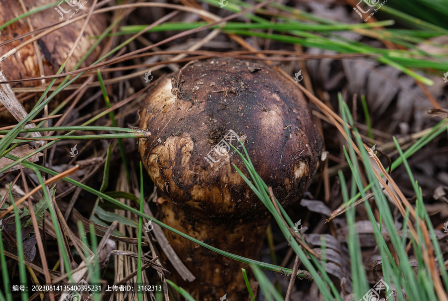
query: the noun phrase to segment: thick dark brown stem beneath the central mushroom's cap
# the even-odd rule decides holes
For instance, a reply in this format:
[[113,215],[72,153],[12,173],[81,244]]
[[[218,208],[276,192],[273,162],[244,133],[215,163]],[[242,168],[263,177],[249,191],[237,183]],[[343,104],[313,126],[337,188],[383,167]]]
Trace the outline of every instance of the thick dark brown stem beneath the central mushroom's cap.
[[[217,218],[194,208],[176,205],[172,201],[165,202],[161,211],[162,222],[185,234],[235,255],[260,258],[266,225],[270,219],[264,213],[244,218]],[[228,298],[233,301],[247,299],[247,288],[241,273],[241,268],[250,270],[247,264],[203,248],[169,230],[164,231],[169,243],[196,280],[183,281],[177,273],[173,273],[173,278],[196,300],[218,300],[224,294],[228,294]]]

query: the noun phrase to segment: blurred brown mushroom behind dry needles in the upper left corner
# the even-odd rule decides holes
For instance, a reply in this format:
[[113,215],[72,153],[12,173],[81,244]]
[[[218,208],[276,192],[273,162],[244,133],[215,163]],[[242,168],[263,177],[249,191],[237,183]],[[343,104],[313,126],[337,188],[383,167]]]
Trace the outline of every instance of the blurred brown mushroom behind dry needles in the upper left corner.
[[[43,5],[50,4],[51,2],[52,0],[23,0],[23,3],[26,7],[25,11],[21,6],[20,1],[0,1],[0,24],[4,24],[7,21],[25,12]],[[31,32],[32,30],[36,30],[68,19],[73,14],[73,12],[76,12],[78,10],[79,6],[85,3],[85,1],[81,2],[80,0],[72,0],[69,2],[70,5],[68,4],[68,2],[61,1],[61,3],[59,4],[56,3],[54,7],[49,7],[47,9],[38,11],[6,26],[1,30],[1,41],[5,42],[22,34]],[[89,2],[85,3],[83,9],[79,10],[77,14],[81,15],[83,11],[86,11],[88,5]],[[67,13],[63,13],[59,8],[62,8],[63,11]],[[59,10],[59,12],[57,10]],[[64,18],[62,18],[61,15]],[[56,74],[56,72],[64,62],[65,57],[69,53],[71,47],[73,46],[73,43],[75,42],[79,32],[81,31],[84,20],[85,19],[81,19],[80,21],[77,21],[75,23],[68,24],[56,31],[49,33],[46,36],[43,36],[37,41],[39,55],[42,59],[43,65],[42,72],[44,75]],[[30,23],[32,28],[30,28],[29,26]],[[95,15],[95,17],[91,18],[81,40],[78,43],[78,46],[75,49],[75,52],[73,53],[65,67],[67,71],[71,71],[80,61],[80,59],[87,53],[89,48],[94,45],[96,40],[92,39],[91,37],[100,35],[102,32],[104,32],[105,29],[106,19],[103,15]],[[23,39],[18,39],[11,43],[0,46],[0,56],[6,54],[8,51],[14,49],[30,38],[31,36],[27,36]],[[80,68],[90,66],[98,58],[100,52],[101,47],[97,47],[84,61]],[[36,55],[34,43],[31,43],[18,50],[13,55],[7,57],[4,61],[0,62],[0,70],[3,70],[3,73],[8,80],[40,77],[41,70],[39,68],[39,62],[37,59],[38,57]],[[23,82],[20,84],[14,84],[12,85],[12,87],[23,88],[36,87],[38,85],[41,85],[40,81]],[[25,99],[23,105],[27,112],[32,109],[40,96],[41,93],[38,93],[37,96],[32,98],[22,97],[23,99]],[[55,108],[61,99],[63,99],[63,95],[60,95],[60,97],[57,99],[51,100],[49,103],[50,109]],[[11,123],[15,121],[9,111],[1,105],[0,120],[1,123]]]

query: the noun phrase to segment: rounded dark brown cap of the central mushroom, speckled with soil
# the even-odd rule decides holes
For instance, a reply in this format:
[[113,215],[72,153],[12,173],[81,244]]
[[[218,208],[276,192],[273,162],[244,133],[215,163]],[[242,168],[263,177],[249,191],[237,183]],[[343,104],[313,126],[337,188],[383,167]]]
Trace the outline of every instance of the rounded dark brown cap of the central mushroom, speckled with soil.
[[247,176],[228,146],[239,146],[235,137],[282,205],[308,189],[322,138],[303,94],[278,72],[230,58],[193,62],[157,80],[148,95],[139,126],[152,135],[140,139],[139,150],[173,202],[209,216],[264,210],[232,166]]

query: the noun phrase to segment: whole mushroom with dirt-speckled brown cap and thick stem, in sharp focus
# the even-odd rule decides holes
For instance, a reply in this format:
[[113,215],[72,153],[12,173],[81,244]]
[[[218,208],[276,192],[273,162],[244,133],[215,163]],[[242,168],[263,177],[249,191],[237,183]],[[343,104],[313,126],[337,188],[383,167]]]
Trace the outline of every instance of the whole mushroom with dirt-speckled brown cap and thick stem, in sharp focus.
[[[257,259],[269,217],[233,167],[246,176],[240,139],[263,181],[283,206],[302,198],[318,166],[322,138],[303,94],[283,75],[249,61],[195,61],[158,79],[139,111],[146,170],[167,200],[161,220],[196,239]],[[246,300],[241,273],[231,260],[165,230],[195,275],[173,275],[197,300]]]

